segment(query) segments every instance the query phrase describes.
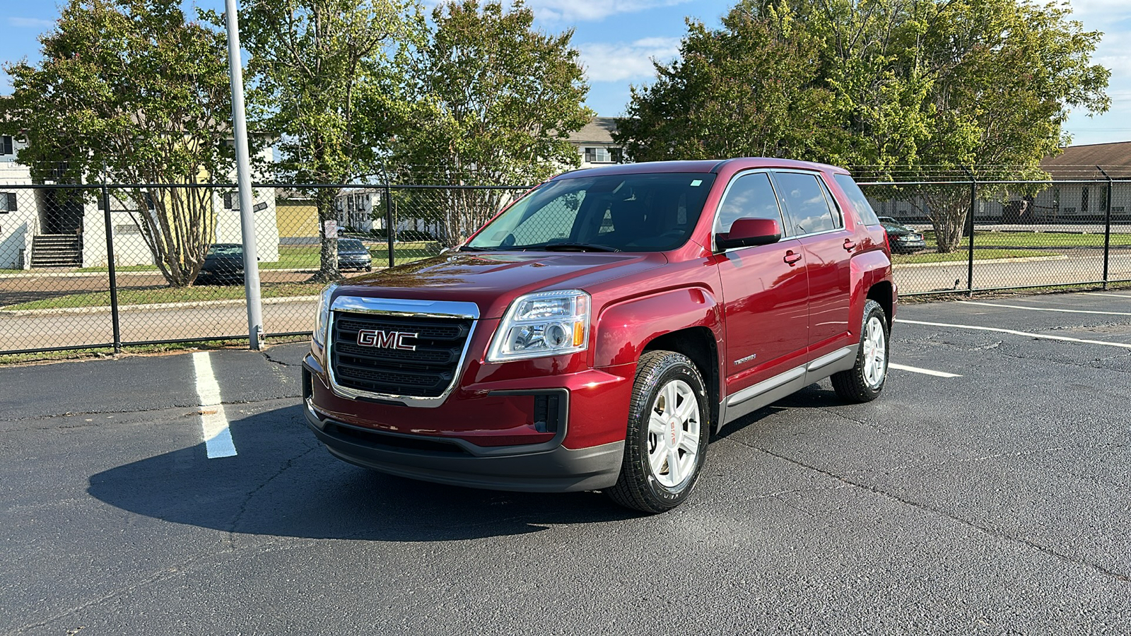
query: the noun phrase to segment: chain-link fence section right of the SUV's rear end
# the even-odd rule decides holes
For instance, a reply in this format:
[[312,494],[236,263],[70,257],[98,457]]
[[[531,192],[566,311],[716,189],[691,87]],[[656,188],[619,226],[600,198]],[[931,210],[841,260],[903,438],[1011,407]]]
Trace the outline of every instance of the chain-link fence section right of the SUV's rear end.
[[888,231],[901,295],[1131,281],[1131,180],[861,188]]

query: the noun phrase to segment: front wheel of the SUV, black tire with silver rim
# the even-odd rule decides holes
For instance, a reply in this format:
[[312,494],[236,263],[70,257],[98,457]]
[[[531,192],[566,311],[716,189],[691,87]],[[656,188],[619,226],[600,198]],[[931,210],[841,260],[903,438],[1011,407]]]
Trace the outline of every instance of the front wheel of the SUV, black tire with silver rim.
[[[693,406],[685,407],[692,398]],[[707,399],[702,376],[687,355],[649,351],[640,358],[624,461],[616,484],[605,491],[610,499],[655,514],[671,510],[691,495],[710,437]],[[670,415],[666,421],[665,415]]]

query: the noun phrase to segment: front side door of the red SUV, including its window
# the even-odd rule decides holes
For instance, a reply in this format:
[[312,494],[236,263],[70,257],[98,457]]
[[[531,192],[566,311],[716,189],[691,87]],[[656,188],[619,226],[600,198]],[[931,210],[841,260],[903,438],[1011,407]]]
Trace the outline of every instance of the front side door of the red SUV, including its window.
[[[735,220],[744,217],[774,218],[786,227],[765,170],[731,180],[714,232],[728,232]],[[802,251],[800,241],[783,237],[777,243],[715,253],[724,298],[727,395],[804,363],[809,284]]]

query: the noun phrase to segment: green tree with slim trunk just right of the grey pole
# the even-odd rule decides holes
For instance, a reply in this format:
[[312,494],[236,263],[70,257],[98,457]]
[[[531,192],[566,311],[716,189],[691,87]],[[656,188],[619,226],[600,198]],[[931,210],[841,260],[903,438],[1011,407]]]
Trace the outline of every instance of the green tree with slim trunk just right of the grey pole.
[[[407,110],[392,63],[414,41],[412,0],[251,0],[240,14],[249,115],[278,138],[278,175],[299,183],[347,183],[378,172]],[[214,20],[219,16],[213,14]],[[335,188],[311,192],[321,233],[316,280],[338,273]]]

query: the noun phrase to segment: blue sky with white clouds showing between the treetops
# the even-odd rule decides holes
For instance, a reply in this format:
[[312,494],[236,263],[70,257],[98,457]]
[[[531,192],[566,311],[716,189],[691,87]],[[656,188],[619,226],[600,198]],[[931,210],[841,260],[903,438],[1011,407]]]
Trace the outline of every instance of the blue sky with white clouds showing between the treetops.
[[[219,8],[223,0],[198,0]],[[685,33],[684,17],[717,25],[733,0],[528,0],[539,27],[560,32],[572,27],[590,89],[588,105],[602,115],[619,115],[629,98],[629,85],[653,78],[650,58],[668,60]],[[1086,28],[1104,31],[1096,61],[1112,69],[1112,109],[1089,118],[1072,113],[1065,129],[1073,144],[1131,140],[1131,1],[1073,0],[1074,17]],[[49,29],[59,10],[50,0],[0,0],[0,60],[38,55],[36,36]],[[0,74],[0,94],[11,92]]]

